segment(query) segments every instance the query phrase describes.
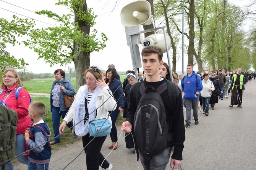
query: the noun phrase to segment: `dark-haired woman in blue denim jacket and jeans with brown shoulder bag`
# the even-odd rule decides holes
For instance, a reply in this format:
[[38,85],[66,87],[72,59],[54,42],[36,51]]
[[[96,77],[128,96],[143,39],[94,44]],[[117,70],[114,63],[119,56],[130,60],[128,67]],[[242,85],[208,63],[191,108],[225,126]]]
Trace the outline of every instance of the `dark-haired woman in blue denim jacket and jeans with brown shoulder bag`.
[[[74,96],[76,94],[75,89],[71,81],[65,78],[65,72],[62,69],[57,69],[54,71],[55,81],[52,83],[52,89],[50,92],[50,109],[52,112],[52,126],[54,132],[54,140],[50,142],[51,145],[60,143],[60,116],[64,119],[68,108],[66,108],[64,95]],[[67,126],[71,128],[73,122],[68,122]],[[72,130],[73,128],[71,128]],[[73,138],[77,135],[74,133]]]

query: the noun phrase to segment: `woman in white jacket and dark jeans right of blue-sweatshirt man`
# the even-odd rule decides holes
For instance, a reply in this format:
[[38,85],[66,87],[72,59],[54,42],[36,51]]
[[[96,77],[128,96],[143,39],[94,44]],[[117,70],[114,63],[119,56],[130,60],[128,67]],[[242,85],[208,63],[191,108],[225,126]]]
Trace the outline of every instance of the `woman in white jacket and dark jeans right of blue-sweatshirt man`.
[[209,115],[209,101],[212,95],[212,91],[214,91],[214,85],[209,80],[209,75],[204,73],[203,75],[203,90],[201,91],[201,97],[203,100],[203,110],[206,116]]

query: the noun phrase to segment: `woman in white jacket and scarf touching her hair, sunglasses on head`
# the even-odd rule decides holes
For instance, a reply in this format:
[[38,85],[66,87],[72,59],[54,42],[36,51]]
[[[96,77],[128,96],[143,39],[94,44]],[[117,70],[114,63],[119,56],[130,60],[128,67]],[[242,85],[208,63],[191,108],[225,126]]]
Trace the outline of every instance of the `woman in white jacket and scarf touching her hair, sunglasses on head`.
[[101,166],[110,170],[113,166],[100,153],[102,145],[107,138],[92,137],[89,131],[89,122],[97,119],[109,119],[109,111],[116,108],[116,101],[108,84],[103,79],[103,73],[96,66],[91,66],[84,72],[86,85],[81,86],[76,98],[68,110],[59,132],[63,133],[67,122],[74,118],[76,135],[82,137],[84,151],[86,153],[87,170],[98,170]]

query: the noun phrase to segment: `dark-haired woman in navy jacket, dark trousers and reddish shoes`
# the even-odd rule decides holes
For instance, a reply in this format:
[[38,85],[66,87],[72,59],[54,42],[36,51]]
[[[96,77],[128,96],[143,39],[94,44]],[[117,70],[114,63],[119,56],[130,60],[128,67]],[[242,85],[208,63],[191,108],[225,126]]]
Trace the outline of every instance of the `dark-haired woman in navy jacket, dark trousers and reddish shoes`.
[[107,78],[106,78],[106,83],[109,83],[109,88],[113,93],[113,97],[117,101],[117,108],[109,111],[110,117],[112,120],[112,129],[110,133],[111,137],[111,145],[109,145],[109,149],[117,149],[117,127],[115,126],[115,122],[117,121],[117,117],[120,113],[122,112],[125,108],[125,96],[123,95],[123,88],[122,88],[122,83],[115,77],[117,76],[117,70],[115,68],[109,68],[106,71],[107,73]]

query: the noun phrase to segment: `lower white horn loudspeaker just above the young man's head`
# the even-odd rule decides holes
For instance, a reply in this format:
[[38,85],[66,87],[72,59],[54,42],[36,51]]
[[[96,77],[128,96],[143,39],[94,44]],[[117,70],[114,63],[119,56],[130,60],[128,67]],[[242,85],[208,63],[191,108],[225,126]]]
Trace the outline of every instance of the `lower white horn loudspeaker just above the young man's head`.
[[[171,38],[168,34],[166,35],[166,41],[167,41],[167,47],[168,50],[171,49]],[[142,41],[142,46],[148,47],[148,46],[157,46],[162,49],[163,53],[166,52],[166,47],[165,47],[165,40],[164,40],[164,33],[156,33],[147,36],[143,41]]]

